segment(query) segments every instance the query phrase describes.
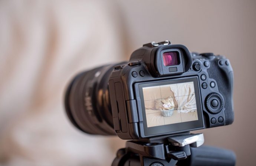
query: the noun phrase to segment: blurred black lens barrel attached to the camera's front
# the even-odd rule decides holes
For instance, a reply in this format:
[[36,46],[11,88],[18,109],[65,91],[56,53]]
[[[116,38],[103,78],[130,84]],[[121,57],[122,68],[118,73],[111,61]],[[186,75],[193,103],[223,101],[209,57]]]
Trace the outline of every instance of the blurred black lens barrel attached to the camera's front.
[[88,134],[115,135],[108,80],[113,65],[75,76],[65,95],[65,108],[75,127]]

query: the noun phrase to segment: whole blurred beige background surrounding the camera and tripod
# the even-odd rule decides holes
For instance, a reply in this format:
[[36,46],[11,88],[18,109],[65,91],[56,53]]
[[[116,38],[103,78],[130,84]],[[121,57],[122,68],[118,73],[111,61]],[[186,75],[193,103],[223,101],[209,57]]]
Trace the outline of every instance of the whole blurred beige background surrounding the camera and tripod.
[[233,150],[238,166],[255,165],[253,0],[0,1],[0,165],[110,165],[125,141],[75,129],[63,107],[66,84],[166,39],[230,59],[234,123],[196,132]]

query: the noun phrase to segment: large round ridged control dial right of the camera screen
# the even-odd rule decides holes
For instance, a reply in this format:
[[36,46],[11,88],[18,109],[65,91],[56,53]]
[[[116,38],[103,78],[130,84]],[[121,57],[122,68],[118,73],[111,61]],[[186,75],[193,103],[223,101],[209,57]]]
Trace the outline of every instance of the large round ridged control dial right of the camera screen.
[[218,93],[210,93],[206,97],[206,108],[207,110],[212,113],[212,114],[217,114],[219,113],[223,106],[224,106],[224,100],[222,96]]

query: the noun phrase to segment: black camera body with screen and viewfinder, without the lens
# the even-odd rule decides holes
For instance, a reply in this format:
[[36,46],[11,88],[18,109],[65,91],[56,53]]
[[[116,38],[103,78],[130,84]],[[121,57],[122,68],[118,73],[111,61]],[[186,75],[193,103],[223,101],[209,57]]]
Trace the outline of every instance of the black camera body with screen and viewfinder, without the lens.
[[141,139],[232,124],[233,70],[213,53],[149,43],[114,67],[109,95],[114,130]]

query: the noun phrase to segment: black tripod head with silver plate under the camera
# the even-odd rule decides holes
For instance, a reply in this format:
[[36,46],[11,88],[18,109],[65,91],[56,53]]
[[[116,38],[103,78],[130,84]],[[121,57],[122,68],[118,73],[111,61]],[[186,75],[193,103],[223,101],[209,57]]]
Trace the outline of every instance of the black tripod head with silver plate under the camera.
[[[127,141],[112,166],[234,166],[234,152],[201,146],[203,134],[190,132]],[[199,147],[200,146],[200,147]]]

